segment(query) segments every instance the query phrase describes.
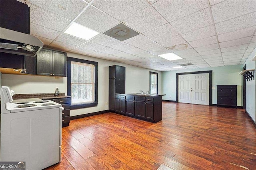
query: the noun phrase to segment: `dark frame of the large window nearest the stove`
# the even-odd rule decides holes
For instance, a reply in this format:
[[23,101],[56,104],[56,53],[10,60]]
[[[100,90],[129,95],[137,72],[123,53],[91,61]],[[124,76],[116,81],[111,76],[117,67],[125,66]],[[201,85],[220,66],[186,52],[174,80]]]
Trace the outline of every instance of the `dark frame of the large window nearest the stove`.
[[67,57],[67,95],[69,95],[69,96],[71,96],[71,92],[72,92],[72,90],[71,90],[71,61],[94,65],[94,102],[82,103],[82,104],[76,104],[76,105],[71,104],[70,110],[98,106],[98,62],[84,60],[84,59],[78,59],[78,58],[73,58],[73,57]]

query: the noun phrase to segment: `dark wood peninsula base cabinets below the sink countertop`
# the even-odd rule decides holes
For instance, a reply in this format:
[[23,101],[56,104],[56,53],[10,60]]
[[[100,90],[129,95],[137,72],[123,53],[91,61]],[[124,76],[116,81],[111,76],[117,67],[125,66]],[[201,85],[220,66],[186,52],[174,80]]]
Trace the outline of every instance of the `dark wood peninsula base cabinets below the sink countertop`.
[[116,93],[114,113],[154,123],[161,121],[162,95],[144,96]]

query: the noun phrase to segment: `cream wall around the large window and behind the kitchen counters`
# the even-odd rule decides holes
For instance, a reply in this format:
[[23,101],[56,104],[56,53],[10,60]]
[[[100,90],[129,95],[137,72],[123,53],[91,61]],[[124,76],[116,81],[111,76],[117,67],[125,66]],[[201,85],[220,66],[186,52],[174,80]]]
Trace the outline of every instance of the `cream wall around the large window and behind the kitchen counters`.
[[[149,71],[154,71],[158,73],[158,93],[162,93],[162,73],[160,71],[70,52],[67,53],[67,56],[98,62],[98,106],[72,110],[70,116],[108,110],[108,105],[106,106],[105,102],[108,102],[108,67],[110,65],[126,67],[126,92],[149,90]],[[59,80],[56,80],[51,76],[2,74],[1,83],[2,86],[9,86],[16,94],[54,93],[56,87],[59,87],[61,92],[67,93],[66,77],[60,77]]]

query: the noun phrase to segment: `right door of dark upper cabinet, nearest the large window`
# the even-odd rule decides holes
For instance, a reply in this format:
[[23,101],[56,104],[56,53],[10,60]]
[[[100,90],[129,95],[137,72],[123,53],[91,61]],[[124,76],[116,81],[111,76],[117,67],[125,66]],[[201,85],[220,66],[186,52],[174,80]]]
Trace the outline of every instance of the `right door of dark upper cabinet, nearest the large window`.
[[66,58],[66,53],[52,51],[52,75],[62,77],[67,76]]

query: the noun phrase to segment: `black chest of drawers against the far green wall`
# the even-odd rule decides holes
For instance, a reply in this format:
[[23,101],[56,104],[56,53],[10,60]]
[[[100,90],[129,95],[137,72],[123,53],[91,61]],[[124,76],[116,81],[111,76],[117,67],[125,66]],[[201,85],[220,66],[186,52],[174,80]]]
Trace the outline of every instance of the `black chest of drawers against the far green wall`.
[[217,85],[217,107],[234,106],[237,108],[237,85]]

